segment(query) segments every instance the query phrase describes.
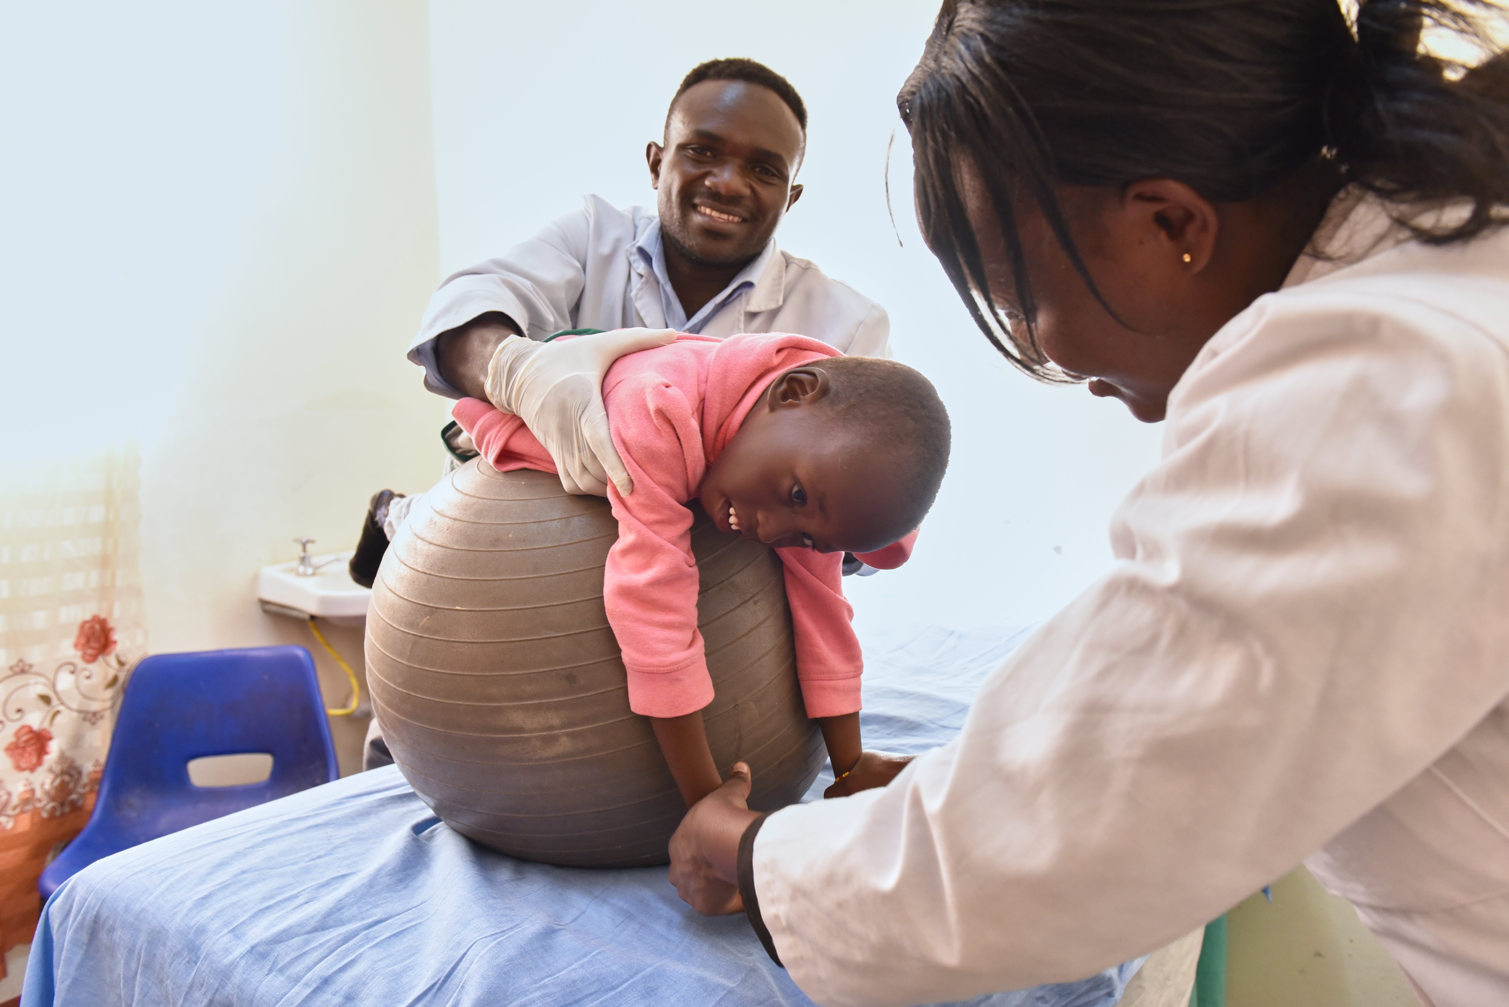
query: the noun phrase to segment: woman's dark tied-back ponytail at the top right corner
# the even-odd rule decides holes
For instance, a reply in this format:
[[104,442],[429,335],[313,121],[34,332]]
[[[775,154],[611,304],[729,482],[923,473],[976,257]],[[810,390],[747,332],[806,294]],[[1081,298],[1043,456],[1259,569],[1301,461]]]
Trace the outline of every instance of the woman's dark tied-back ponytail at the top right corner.
[[1492,53],[1477,12],[1498,9],[1363,0],[1355,57],[1338,68],[1325,104],[1328,154],[1348,181],[1402,205],[1471,204],[1465,217],[1411,225],[1432,243],[1476,237],[1509,210],[1509,59],[1497,53],[1468,69],[1421,51],[1426,35],[1435,48],[1446,41]]

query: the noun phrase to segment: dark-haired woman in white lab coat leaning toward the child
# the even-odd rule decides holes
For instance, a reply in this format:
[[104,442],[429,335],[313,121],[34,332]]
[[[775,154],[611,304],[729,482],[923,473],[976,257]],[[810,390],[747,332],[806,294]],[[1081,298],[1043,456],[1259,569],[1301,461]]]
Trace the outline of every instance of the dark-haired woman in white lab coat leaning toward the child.
[[[1168,427],[955,742],[688,813],[682,897],[818,1002],[1083,977],[1305,861],[1423,1001],[1509,1004],[1509,60],[1418,51],[1474,6],[945,3],[899,98],[930,246],[1008,360]],[[590,442],[599,345],[504,345],[499,404]]]

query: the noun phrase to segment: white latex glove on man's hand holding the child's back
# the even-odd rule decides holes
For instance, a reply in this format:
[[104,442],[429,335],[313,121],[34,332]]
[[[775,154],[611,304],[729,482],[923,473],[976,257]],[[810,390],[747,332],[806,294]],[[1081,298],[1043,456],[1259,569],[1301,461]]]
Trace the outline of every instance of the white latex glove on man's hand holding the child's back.
[[608,436],[602,377],[619,357],[675,341],[675,329],[619,329],[555,342],[509,336],[487,363],[487,401],[524,421],[555,460],[567,493],[607,496],[613,479],[628,496],[634,479]]

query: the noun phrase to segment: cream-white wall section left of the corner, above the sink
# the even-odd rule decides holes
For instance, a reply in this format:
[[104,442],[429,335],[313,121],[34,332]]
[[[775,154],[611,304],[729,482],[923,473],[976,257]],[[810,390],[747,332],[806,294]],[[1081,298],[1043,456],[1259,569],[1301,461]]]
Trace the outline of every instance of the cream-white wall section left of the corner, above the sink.
[[[420,0],[0,9],[0,463],[142,445],[154,651],[309,645],[258,567],[439,469]],[[353,662],[361,633],[332,641]],[[365,724],[338,722],[343,767]]]

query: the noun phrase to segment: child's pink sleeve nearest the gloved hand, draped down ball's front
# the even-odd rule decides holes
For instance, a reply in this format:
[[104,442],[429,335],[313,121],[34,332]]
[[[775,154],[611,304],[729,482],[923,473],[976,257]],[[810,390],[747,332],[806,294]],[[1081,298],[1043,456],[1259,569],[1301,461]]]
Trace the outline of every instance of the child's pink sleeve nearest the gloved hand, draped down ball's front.
[[[628,384],[628,383],[625,383]],[[604,603],[629,672],[629,709],[673,718],[712,702],[712,677],[697,630],[697,562],[691,499],[706,458],[691,406],[658,380],[620,384],[613,442],[634,493],[608,485],[619,541],[608,552]]]

